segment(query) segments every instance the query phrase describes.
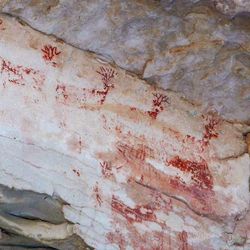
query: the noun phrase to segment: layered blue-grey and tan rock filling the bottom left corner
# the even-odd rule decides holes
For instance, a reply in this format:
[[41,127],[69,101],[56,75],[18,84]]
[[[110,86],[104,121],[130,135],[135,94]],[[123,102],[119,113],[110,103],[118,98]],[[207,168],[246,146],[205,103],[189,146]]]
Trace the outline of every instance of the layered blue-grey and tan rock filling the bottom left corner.
[[[67,237],[57,238],[60,235],[60,224],[67,223],[62,212],[63,205],[65,203],[46,194],[19,191],[0,185],[0,228],[3,229],[0,249],[88,249],[84,241],[72,233]],[[44,228],[52,238],[42,236]]]

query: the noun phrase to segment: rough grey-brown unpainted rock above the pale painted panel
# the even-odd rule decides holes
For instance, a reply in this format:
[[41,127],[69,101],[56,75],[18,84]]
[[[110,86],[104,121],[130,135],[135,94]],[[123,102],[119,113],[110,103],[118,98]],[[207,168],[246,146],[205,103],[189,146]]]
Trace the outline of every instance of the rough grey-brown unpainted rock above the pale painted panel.
[[250,122],[249,1],[5,0],[2,8],[205,110]]

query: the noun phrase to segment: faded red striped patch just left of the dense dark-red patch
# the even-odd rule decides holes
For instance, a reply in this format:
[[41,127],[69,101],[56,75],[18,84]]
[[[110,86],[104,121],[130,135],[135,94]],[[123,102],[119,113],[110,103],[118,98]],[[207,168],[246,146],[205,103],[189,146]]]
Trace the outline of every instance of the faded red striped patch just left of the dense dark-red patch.
[[154,151],[153,149],[143,145],[139,144],[137,147],[130,146],[124,143],[118,143],[117,149],[119,153],[122,154],[122,156],[127,160],[131,161],[134,159],[145,161],[146,157],[153,158],[154,157]]

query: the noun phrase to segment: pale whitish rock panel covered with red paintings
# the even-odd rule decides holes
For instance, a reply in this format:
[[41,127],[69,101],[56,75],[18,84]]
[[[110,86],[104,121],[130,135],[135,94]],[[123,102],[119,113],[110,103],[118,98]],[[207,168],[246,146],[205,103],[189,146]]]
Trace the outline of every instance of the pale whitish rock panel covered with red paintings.
[[0,184],[60,198],[68,221],[0,225],[96,249],[250,247],[249,127],[0,20]]

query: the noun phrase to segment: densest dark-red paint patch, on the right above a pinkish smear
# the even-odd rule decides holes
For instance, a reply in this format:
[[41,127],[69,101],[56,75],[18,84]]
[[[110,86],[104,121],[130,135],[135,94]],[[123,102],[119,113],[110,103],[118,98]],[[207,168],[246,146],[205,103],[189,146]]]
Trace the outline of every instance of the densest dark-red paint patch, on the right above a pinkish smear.
[[167,161],[167,163],[183,172],[191,173],[191,179],[199,188],[213,188],[213,177],[205,160],[202,159],[200,162],[195,162],[175,156],[170,161]]

